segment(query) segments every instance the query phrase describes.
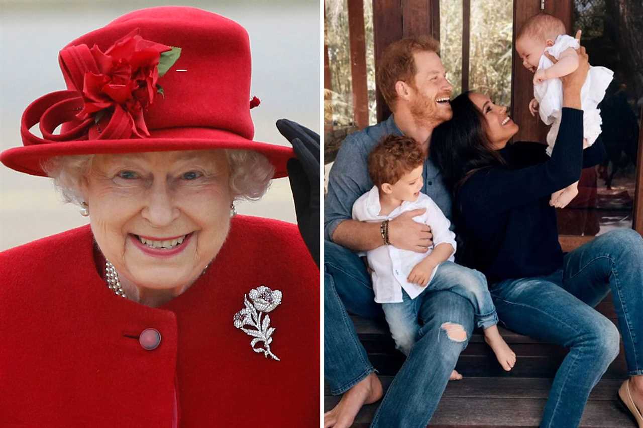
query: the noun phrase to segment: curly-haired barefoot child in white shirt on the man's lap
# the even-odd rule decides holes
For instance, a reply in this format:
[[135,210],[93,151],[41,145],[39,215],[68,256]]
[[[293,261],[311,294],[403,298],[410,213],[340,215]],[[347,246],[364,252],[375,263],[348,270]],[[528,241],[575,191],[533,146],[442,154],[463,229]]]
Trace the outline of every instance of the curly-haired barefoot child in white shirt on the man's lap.
[[[420,330],[419,310],[426,289],[449,290],[469,299],[476,325],[484,328],[485,341],[509,371],[516,363],[516,354],[498,332],[498,315],[487,281],[480,272],[453,263],[456,244],[449,220],[430,197],[420,192],[423,165],[422,148],[406,137],[388,136],[368,156],[368,173],[375,185],[355,201],[352,217],[381,222],[385,245],[367,252],[375,301],[382,304],[395,345],[408,355]],[[389,220],[418,209],[426,211],[413,220],[428,224],[433,235],[433,246],[427,253],[398,249],[388,239]],[[443,328],[449,334],[448,326]]]

